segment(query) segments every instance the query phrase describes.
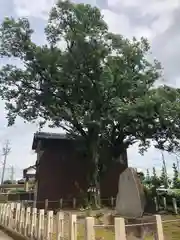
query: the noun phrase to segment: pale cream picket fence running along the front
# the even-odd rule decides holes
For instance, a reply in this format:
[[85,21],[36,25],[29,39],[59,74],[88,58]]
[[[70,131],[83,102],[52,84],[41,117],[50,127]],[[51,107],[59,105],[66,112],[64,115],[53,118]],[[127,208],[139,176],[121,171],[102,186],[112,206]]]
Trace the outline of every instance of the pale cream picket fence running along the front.
[[[161,216],[156,215],[156,239],[164,240]],[[85,240],[96,240],[95,218],[86,217],[84,219]],[[0,225],[9,230],[16,231],[29,239],[46,240],[78,240],[77,216],[69,215],[68,237],[65,237],[66,221],[64,212],[59,211],[55,215],[53,211],[45,212],[44,209],[25,208],[21,203],[0,204]],[[116,217],[114,220],[115,240],[126,240],[125,219]],[[103,238],[103,236],[102,236]]]

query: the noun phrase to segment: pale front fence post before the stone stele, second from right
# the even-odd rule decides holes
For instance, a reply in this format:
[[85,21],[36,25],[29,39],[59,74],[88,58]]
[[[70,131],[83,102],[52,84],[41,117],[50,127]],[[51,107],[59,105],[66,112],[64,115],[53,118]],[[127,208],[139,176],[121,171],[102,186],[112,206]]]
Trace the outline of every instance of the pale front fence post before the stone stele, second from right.
[[115,218],[115,240],[126,240],[126,227],[124,218]]

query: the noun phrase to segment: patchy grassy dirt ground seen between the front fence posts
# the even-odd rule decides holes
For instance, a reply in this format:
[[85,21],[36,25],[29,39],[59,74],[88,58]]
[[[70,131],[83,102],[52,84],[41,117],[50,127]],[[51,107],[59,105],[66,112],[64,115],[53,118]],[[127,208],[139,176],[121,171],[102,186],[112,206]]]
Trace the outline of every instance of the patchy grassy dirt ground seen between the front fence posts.
[[[102,214],[103,212],[103,214]],[[77,231],[78,240],[84,239],[85,234],[85,224],[84,218],[87,212],[71,211],[77,215]],[[88,213],[89,214],[89,213]],[[92,211],[91,216],[96,218],[95,220],[95,235],[97,240],[114,240],[114,211],[112,210],[99,210]],[[65,238],[68,239],[68,212],[65,213]],[[180,215],[162,215],[163,229],[164,229],[164,239],[165,240],[179,240],[180,239]],[[134,224],[140,224],[141,226],[135,226]],[[143,224],[144,223],[144,224]],[[150,223],[147,225],[147,223]],[[156,235],[156,224],[154,216],[144,216],[143,219],[128,220],[126,224],[127,240],[153,240]]]

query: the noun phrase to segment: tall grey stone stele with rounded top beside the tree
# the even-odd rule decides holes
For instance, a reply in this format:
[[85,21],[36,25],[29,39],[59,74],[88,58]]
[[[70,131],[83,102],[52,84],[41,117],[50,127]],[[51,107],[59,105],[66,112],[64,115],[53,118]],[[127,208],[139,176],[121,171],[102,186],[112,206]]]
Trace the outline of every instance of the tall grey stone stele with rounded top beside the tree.
[[142,217],[145,204],[145,193],[138,174],[133,168],[127,168],[119,176],[116,213],[127,218]]

